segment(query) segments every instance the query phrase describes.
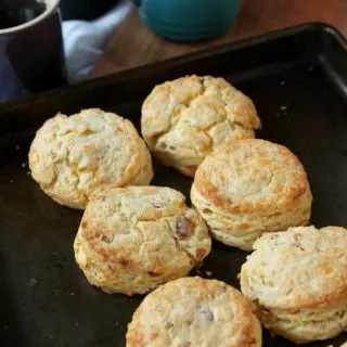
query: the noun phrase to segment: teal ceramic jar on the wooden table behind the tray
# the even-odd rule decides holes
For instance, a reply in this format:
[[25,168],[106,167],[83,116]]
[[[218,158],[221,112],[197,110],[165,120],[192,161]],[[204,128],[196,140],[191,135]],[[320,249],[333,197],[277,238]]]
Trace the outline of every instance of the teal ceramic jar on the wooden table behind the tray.
[[200,41],[228,30],[240,0],[136,0],[139,14],[154,33],[174,41]]

